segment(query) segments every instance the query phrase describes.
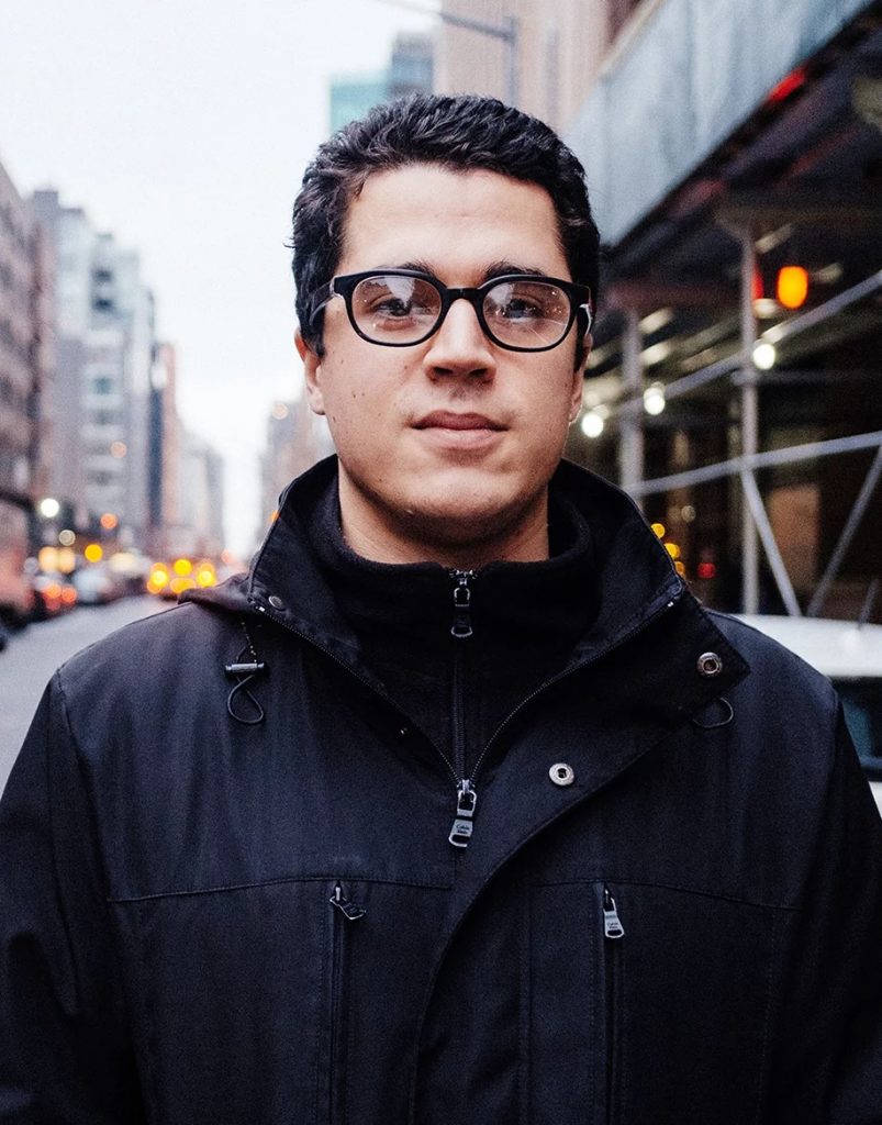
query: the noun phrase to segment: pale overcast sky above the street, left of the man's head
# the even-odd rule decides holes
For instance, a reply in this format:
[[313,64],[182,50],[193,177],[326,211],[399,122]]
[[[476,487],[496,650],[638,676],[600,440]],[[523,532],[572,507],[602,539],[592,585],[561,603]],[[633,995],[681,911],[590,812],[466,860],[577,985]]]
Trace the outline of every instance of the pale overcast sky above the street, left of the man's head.
[[299,394],[285,242],[328,79],[431,22],[378,0],[3,0],[0,162],[140,252],[240,550],[270,407]]

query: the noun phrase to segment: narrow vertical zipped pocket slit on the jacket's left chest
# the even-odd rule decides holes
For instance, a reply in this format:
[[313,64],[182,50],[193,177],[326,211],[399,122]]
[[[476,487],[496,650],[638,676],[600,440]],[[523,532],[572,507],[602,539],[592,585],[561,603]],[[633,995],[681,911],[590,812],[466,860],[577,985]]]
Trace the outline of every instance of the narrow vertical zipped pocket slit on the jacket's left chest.
[[[345,883],[336,881],[327,894],[326,1064],[320,1070],[318,1122],[344,1125],[349,1066],[349,975],[357,924],[366,910]],[[324,1074],[324,1081],[322,1076]]]

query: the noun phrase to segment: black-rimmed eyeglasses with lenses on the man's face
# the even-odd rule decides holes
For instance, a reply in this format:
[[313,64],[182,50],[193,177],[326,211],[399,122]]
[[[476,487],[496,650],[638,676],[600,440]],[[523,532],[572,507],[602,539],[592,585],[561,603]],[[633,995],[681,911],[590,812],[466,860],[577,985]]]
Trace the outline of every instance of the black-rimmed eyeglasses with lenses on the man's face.
[[454,300],[467,300],[489,339],[508,351],[548,351],[576,314],[591,325],[591,290],[559,278],[508,273],[476,288],[450,289],[420,270],[371,270],[333,278],[313,295],[309,323],[333,297],[346,304],[358,334],[385,348],[421,344],[441,327]]

